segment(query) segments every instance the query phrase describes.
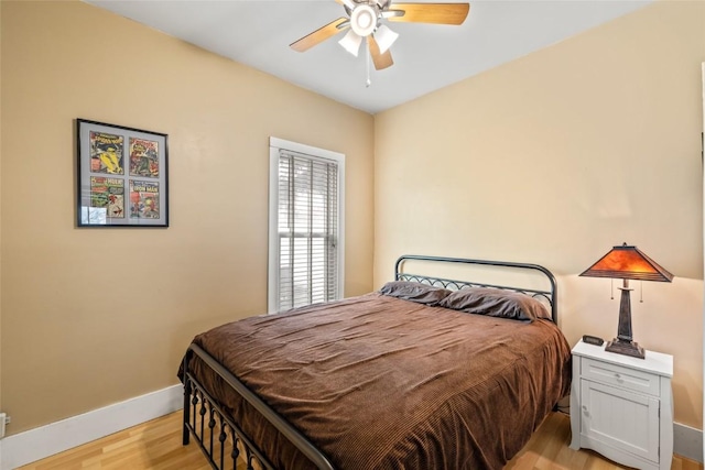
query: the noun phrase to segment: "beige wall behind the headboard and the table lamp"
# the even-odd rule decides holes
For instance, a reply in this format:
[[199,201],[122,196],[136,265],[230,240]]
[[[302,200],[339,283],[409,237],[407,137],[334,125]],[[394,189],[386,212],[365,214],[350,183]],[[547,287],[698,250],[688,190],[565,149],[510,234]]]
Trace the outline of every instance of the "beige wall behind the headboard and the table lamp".
[[703,61],[705,2],[658,2],[378,114],[375,286],[404,252],[534,262],[570,342],[611,339],[619,297],[577,274],[636,244],[676,277],[634,283],[634,338],[702,428]]

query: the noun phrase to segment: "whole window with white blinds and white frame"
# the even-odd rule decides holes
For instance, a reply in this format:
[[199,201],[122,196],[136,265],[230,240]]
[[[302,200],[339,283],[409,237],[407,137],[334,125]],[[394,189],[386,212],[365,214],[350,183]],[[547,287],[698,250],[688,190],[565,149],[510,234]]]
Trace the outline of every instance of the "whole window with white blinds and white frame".
[[269,313],[343,296],[345,155],[270,138]]

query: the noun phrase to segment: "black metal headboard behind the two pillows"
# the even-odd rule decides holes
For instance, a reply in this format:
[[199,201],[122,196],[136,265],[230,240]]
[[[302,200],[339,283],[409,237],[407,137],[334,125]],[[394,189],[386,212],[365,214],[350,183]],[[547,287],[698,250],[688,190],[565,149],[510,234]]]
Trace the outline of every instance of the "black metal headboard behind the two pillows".
[[[511,267],[518,270],[532,270],[541,272],[551,284],[550,291],[538,291],[534,288],[525,288],[525,287],[516,287],[516,286],[506,286],[506,285],[495,285],[487,284],[476,281],[458,281],[458,280],[448,280],[443,277],[434,277],[422,274],[410,274],[402,273],[401,267],[404,261],[408,260],[420,260],[420,261],[433,261],[440,263],[460,263],[460,264],[479,264],[487,266],[500,266],[500,267]],[[530,295],[532,297],[538,297],[546,300],[551,306],[551,318],[553,318],[554,324],[558,324],[558,309],[557,309],[557,284],[555,282],[555,277],[553,273],[545,267],[539,264],[527,264],[527,263],[513,263],[509,261],[487,261],[487,260],[469,260],[464,258],[444,258],[444,256],[423,256],[417,254],[404,254],[397,260],[394,264],[394,280],[395,281],[413,281],[421,282],[431,285],[437,285],[451,289],[460,289],[463,287],[495,287],[495,288],[503,288],[513,292],[520,292],[522,294]]]

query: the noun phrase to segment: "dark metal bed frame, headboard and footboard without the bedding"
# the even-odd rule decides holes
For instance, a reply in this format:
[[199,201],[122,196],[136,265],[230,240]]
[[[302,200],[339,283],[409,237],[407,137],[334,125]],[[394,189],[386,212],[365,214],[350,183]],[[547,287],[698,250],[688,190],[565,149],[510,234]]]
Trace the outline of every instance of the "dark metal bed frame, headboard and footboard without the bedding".
[[[405,261],[429,261],[440,263],[457,263],[486,265],[497,267],[508,267],[524,271],[538,271],[549,281],[551,287],[547,291],[523,288],[514,286],[502,286],[471,281],[457,281],[420,274],[403,273]],[[527,263],[470,260],[462,258],[403,255],[394,264],[395,281],[421,282],[431,285],[438,285],[452,289],[464,287],[495,287],[520,292],[532,297],[544,299],[551,306],[551,316],[557,324],[557,286],[551,271],[538,265]],[[200,450],[206,456],[210,466],[216,470],[236,469],[238,459],[246,464],[248,470],[274,469],[262,450],[247,436],[237,424],[234,416],[230,416],[212,397],[204,386],[194,378],[189,371],[189,363],[194,357],[199,358],[204,364],[210,368],[232,389],[234,393],[240,395],[252,407],[254,407],[269,423],[271,423],[286,439],[289,439],[311,462],[318,469],[332,470],[333,463],[324,456],[314,444],[294,428],[286,419],[274,412],[257,394],[250,391],[245,383],[237,379],[208,352],[196,345],[191,345],[184,354],[182,364],[182,382],[184,384],[184,411],[183,411],[183,445],[188,445],[193,436]]]

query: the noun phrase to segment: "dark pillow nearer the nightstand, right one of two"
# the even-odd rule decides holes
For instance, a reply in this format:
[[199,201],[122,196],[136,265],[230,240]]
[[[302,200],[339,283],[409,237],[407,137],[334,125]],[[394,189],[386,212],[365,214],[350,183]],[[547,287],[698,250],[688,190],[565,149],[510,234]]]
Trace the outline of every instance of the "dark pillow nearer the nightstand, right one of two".
[[527,294],[501,288],[467,287],[452,293],[441,300],[438,306],[468,314],[514,320],[551,319],[551,314],[538,299]]

